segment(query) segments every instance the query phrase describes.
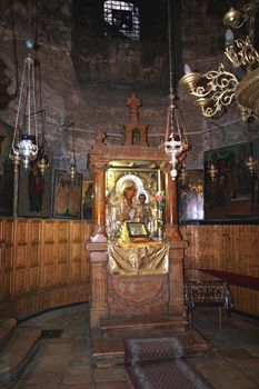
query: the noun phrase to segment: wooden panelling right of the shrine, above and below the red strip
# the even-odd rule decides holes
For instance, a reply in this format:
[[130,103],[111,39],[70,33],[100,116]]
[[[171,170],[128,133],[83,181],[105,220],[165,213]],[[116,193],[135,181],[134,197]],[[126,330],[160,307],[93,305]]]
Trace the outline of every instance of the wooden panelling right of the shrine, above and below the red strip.
[[[259,226],[181,226],[189,242],[185,267],[259,277]],[[233,309],[259,316],[259,291],[231,286]]]

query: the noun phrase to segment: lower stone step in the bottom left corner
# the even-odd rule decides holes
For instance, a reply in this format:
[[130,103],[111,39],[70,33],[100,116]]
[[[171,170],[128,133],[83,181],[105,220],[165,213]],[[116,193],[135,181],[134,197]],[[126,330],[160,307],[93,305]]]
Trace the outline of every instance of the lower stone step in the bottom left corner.
[[34,356],[41,329],[38,327],[16,327],[12,336],[0,351],[0,388],[10,388],[27,363]]

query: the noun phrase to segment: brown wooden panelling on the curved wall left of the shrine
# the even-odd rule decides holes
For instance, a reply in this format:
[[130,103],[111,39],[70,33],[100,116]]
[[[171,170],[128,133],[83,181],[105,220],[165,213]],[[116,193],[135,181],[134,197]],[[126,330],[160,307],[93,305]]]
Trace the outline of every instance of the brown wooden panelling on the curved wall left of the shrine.
[[0,219],[0,317],[88,300],[90,231],[82,220]]

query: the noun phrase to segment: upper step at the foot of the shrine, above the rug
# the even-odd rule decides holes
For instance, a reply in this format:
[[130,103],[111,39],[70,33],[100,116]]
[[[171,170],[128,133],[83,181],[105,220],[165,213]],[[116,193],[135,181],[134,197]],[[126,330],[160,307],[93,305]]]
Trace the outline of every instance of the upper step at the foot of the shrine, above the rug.
[[100,320],[101,330],[104,337],[129,337],[146,336],[152,330],[152,333],[159,335],[161,331],[183,332],[188,322],[181,316],[145,315],[132,317],[110,317]]

